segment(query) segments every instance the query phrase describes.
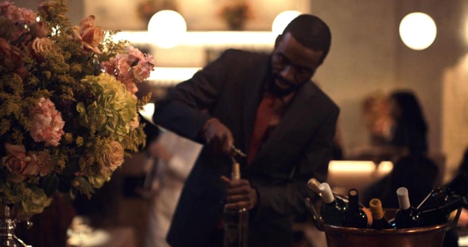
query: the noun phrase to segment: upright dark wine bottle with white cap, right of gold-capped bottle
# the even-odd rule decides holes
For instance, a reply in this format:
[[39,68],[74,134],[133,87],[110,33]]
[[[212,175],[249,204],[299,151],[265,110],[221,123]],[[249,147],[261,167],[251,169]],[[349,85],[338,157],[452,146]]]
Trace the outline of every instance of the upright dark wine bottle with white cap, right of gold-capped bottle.
[[421,226],[420,212],[414,207],[411,207],[407,188],[398,188],[396,193],[400,206],[400,209],[395,213],[396,228],[415,228]]

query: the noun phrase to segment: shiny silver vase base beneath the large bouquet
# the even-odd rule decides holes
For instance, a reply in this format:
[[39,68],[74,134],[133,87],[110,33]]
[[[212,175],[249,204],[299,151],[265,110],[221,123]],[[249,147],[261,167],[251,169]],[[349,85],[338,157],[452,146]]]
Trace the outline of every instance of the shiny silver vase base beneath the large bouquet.
[[28,247],[15,235],[16,218],[14,210],[9,206],[4,206],[0,217],[0,247]]

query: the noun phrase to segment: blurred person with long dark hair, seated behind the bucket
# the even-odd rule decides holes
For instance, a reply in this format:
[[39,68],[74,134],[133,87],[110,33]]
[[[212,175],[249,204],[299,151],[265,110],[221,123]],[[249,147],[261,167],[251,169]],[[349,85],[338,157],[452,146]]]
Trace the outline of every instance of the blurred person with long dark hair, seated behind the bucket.
[[427,124],[411,91],[395,91],[388,97],[388,144],[399,150],[393,170],[363,193],[365,203],[379,198],[386,208],[398,208],[396,190],[406,187],[411,205],[418,205],[433,189],[437,165],[427,157]]

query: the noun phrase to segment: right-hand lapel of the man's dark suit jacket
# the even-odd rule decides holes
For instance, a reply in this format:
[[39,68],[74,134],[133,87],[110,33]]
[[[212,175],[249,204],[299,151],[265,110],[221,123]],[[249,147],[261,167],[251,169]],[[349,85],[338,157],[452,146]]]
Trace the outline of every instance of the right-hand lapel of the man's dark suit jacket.
[[[310,118],[310,115],[305,113],[310,112],[311,104],[313,104],[314,95],[316,95],[315,85],[309,81],[304,87],[294,96],[289,106],[287,107],[285,114],[281,117],[281,121],[275,127],[266,143],[257,153],[257,156],[252,161],[252,165],[259,159],[261,159],[268,152],[272,152],[272,148],[275,143],[281,142],[285,136],[289,136],[291,133],[301,134],[300,131],[296,131],[302,123],[304,118]],[[313,117],[313,116],[312,116]]]

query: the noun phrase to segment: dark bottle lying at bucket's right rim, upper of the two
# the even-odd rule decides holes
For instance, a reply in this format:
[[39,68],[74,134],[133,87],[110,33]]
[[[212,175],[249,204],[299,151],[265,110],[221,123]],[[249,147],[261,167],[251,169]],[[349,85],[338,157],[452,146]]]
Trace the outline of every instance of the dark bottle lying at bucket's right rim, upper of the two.
[[425,211],[444,206],[452,195],[467,196],[468,173],[461,171],[444,187],[432,190],[418,205],[417,209]]

